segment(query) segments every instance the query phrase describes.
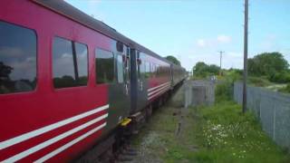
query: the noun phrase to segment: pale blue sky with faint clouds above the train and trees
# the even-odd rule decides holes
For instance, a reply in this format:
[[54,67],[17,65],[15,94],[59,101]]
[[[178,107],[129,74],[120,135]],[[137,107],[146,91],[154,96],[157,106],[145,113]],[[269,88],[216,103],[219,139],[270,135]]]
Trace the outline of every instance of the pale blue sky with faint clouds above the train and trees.
[[[244,0],[65,0],[188,71],[196,62],[243,68]],[[248,57],[290,62],[290,0],[249,0]]]

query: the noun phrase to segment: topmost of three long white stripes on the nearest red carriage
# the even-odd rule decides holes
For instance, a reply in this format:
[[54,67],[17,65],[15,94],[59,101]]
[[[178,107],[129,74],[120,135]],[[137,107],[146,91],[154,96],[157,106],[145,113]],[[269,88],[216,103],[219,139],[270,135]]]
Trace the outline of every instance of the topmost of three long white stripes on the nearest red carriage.
[[87,112],[84,112],[82,114],[79,114],[79,115],[76,115],[72,118],[69,118],[69,119],[65,119],[65,120],[61,120],[61,121],[58,121],[58,122],[55,122],[49,126],[45,126],[41,129],[35,129],[33,131],[30,131],[30,132],[27,132],[27,133],[24,133],[23,135],[20,135],[20,136],[17,136],[17,137],[14,137],[13,139],[7,139],[5,141],[2,141],[0,142],[0,149],[6,149],[10,146],[13,146],[14,144],[17,144],[17,143],[20,143],[26,139],[32,139],[38,135],[41,135],[45,132],[48,132],[50,130],[53,130],[53,129],[57,129],[57,128],[60,128],[66,124],[69,124],[69,123],[72,123],[73,121],[75,120],[80,120],[82,118],[85,118],[85,117],[88,117],[94,113],[97,113],[97,112],[100,112],[102,110],[107,110],[109,108],[109,104],[107,105],[104,105],[102,107],[99,107],[99,108],[96,108],[94,110],[89,110]]

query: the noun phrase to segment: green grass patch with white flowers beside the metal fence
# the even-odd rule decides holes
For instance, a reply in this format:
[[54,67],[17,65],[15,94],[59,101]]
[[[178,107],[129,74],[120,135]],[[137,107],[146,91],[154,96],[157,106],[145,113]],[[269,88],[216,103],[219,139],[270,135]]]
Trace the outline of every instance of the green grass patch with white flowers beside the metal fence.
[[289,162],[289,156],[262,131],[251,112],[233,101],[199,107],[198,162]]

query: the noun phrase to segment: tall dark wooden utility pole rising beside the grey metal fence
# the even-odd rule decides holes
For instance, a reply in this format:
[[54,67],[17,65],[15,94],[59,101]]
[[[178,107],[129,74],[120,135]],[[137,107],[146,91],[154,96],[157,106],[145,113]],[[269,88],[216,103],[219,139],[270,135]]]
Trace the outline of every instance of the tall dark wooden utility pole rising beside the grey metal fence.
[[245,0],[243,113],[247,111],[247,21],[248,0]]

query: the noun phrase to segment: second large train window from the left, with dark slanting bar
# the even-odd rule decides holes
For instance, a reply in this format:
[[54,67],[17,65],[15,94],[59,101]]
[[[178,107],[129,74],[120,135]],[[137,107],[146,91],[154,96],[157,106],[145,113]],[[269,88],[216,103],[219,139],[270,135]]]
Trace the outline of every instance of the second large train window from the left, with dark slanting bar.
[[87,84],[88,50],[82,43],[60,37],[53,39],[53,84],[55,88]]

